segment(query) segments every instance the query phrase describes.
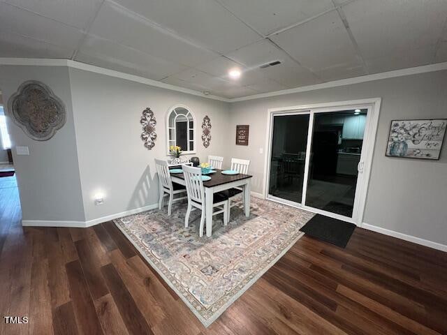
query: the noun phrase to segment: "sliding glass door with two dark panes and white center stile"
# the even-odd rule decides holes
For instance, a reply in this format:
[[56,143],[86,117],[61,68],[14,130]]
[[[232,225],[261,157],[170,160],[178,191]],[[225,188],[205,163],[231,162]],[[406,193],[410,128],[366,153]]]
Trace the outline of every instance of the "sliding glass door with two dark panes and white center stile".
[[268,198],[352,221],[368,107],[273,114]]

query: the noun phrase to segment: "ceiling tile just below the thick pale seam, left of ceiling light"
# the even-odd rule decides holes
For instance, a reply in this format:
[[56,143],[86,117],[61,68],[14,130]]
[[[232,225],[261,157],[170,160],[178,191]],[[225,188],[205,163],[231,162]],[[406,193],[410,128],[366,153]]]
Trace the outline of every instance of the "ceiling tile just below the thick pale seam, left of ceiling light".
[[90,33],[186,66],[196,66],[219,57],[111,2],[103,4]]

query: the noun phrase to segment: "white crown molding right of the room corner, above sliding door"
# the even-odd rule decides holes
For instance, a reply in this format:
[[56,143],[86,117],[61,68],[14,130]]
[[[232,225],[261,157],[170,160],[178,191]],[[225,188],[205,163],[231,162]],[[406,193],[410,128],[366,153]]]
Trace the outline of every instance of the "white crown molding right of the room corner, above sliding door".
[[331,87],[339,87],[351,84],[359,84],[360,82],[372,82],[374,80],[382,80],[394,77],[403,77],[405,75],[417,75],[419,73],[427,73],[434,71],[447,70],[447,61],[444,63],[416,66],[414,68],[402,68],[401,70],[393,70],[382,73],[375,73],[374,75],[362,75],[360,77],[352,77],[341,80],[334,80],[332,82],[323,82],[321,84],[295,87],[294,89],[282,89],[281,91],[273,91],[263,94],[254,94],[253,96],[242,96],[241,98],[229,99],[230,103],[237,101],[247,101],[259,98],[269,98],[270,96],[282,96],[284,94],[293,94],[306,91],[314,91],[316,89],[328,89]]

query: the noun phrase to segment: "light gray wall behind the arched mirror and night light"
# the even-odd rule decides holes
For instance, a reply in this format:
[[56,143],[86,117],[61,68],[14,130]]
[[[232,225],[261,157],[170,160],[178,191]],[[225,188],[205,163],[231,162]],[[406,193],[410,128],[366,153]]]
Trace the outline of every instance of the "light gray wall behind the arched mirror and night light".
[[[155,204],[158,180],[154,158],[166,156],[166,113],[171,106],[188,106],[196,117],[197,154],[226,154],[228,103],[177,91],[70,68],[71,94],[80,164],[80,179],[87,220]],[[156,145],[152,150],[140,139],[142,110],[154,111]],[[203,117],[211,119],[212,140],[205,149],[200,138]],[[94,205],[102,191],[105,203]]]

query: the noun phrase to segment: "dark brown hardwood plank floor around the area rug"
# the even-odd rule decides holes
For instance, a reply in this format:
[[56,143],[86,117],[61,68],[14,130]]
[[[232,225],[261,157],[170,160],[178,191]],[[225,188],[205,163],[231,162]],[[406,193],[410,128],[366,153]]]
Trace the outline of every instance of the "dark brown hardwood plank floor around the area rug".
[[446,253],[362,229],[345,249],[302,237],[205,329],[112,222],[22,228],[1,185],[0,334],[447,334]]

